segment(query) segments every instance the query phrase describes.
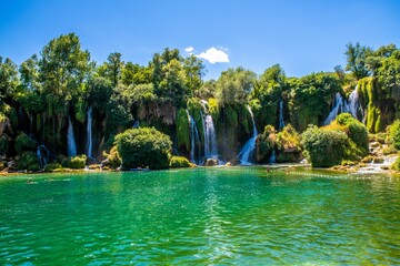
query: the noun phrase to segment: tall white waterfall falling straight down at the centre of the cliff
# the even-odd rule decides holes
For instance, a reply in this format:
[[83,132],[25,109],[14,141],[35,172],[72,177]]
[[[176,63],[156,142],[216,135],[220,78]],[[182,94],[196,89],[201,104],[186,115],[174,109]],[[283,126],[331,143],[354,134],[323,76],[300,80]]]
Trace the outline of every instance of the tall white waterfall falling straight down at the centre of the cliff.
[[208,104],[207,101],[201,100],[201,105],[203,106],[204,110],[204,113],[201,113],[202,125],[204,131],[204,157],[218,158],[216,127],[211,114],[207,113],[207,104]]

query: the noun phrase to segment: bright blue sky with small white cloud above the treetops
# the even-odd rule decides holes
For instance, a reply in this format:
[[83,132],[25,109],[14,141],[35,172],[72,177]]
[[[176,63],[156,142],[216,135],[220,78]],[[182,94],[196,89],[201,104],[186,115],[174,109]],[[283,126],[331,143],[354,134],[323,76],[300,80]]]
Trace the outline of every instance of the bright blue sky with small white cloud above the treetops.
[[204,60],[206,79],[274,63],[301,76],[344,65],[349,42],[400,45],[398,0],[0,0],[0,55],[16,63],[69,32],[99,63],[111,52],[147,64],[166,47],[193,48],[219,61]]

